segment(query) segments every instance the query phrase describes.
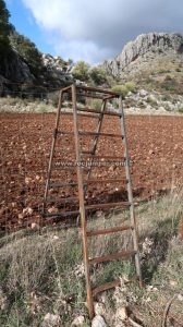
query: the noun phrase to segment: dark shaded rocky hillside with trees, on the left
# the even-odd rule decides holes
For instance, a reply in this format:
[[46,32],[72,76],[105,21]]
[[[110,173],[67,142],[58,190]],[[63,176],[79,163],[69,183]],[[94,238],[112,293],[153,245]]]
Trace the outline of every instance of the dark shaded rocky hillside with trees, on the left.
[[[10,23],[10,12],[0,0],[0,95],[60,87],[71,83],[72,61],[42,55],[36,45]],[[21,84],[21,85],[20,85]]]

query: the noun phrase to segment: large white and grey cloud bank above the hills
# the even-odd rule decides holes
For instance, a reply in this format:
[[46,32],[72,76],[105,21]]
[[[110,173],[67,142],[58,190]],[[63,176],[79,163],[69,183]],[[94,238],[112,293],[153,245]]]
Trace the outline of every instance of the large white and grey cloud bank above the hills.
[[114,56],[141,33],[183,32],[182,0],[22,0],[64,58]]

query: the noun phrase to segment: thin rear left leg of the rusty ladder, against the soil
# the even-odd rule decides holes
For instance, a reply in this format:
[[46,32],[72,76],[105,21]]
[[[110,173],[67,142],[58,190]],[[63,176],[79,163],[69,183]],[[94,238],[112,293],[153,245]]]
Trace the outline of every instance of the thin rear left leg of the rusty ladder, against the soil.
[[47,180],[46,180],[46,190],[45,190],[45,195],[44,195],[44,209],[42,209],[44,214],[45,214],[45,209],[46,209],[46,202],[47,202],[49,182],[50,182],[50,177],[51,177],[52,159],[53,159],[53,154],[54,154],[57,131],[58,131],[58,126],[59,126],[59,122],[60,122],[60,111],[62,108],[62,102],[63,102],[63,92],[61,90],[60,97],[59,97],[58,110],[57,110],[56,126],[54,126],[53,136],[52,136],[51,153],[50,153]]

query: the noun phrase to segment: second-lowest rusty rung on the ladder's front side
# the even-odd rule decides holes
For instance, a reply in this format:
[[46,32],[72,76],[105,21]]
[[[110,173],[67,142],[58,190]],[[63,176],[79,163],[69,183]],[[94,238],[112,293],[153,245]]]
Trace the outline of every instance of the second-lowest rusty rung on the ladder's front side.
[[108,255],[103,255],[103,256],[94,257],[94,258],[89,259],[89,264],[93,265],[93,264],[100,264],[103,262],[115,261],[119,258],[127,258],[135,254],[136,254],[135,251],[122,251],[117,254],[108,254]]

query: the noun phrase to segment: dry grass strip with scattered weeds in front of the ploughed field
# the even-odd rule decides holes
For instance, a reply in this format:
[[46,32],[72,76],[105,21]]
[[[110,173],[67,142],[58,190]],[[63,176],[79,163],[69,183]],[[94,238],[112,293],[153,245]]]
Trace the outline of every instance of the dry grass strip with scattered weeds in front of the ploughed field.
[[[164,306],[174,294],[179,296],[170,314],[183,319],[183,244],[179,238],[182,198],[183,192],[174,190],[136,208],[145,287],[122,286],[99,296],[109,326],[118,326],[115,312],[121,305],[127,306],[143,326],[160,326]],[[127,219],[125,211],[99,216],[88,221],[88,228],[114,227]],[[81,243],[78,229],[47,229],[41,234],[26,230],[0,240],[0,326],[38,327],[47,313],[60,315],[60,326],[71,326],[82,314],[83,326],[89,326]],[[89,241],[90,256],[115,253],[122,246],[131,246],[126,234]],[[133,274],[131,262],[117,261],[95,266],[91,280],[98,284]]]

